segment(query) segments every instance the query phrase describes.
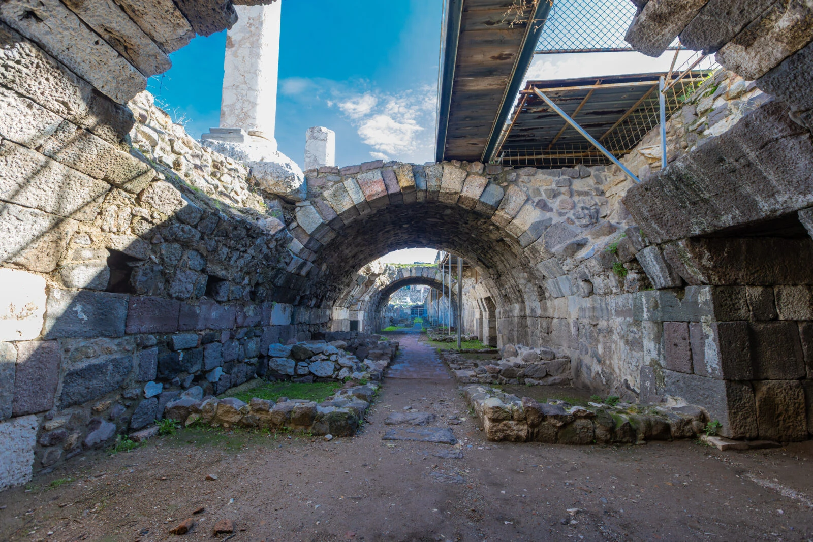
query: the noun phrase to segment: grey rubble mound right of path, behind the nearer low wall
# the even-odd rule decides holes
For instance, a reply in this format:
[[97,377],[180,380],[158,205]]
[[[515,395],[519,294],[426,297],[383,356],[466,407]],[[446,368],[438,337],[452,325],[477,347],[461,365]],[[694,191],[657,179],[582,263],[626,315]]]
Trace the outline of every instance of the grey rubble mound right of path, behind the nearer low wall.
[[465,384],[525,384],[527,386],[569,386],[572,384],[570,358],[553,349],[506,345],[502,358],[489,362],[463,358],[457,353],[441,353],[454,377]]

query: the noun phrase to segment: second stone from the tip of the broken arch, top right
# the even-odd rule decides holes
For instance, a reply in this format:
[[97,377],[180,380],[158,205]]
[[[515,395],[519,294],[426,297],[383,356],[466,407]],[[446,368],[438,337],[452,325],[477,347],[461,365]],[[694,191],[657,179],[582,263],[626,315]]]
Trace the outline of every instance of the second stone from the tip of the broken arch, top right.
[[689,49],[715,53],[774,0],[709,0],[680,33]]

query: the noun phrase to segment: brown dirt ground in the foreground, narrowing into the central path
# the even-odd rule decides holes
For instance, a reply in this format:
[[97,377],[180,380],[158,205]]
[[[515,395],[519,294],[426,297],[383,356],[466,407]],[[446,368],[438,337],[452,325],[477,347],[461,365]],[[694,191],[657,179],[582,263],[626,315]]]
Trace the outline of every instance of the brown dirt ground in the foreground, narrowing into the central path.
[[[416,337],[406,352],[433,356]],[[381,440],[411,406],[448,444]],[[450,425],[451,416],[465,418]],[[0,493],[0,540],[813,540],[813,442],[719,452],[489,443],[453,379],[385,379],[358,436],[184,430],[130,453],[75,457]],[[207,480],[207,475],[217,479]],[[67,481],[66,479],[72,479]],[[51,487],[57,486],[57,487]],[[195,509],[203,507],[200,514]]]

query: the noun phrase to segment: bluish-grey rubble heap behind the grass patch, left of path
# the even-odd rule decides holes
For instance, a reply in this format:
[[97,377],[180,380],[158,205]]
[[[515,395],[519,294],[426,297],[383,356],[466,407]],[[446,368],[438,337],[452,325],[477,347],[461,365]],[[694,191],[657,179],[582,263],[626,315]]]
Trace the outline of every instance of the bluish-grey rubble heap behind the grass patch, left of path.
[[345,340],[304,340],[293,345],[270,345],[268,375],[294,382],[346,378],[380,381],[398,350],[398,342],[379,339],[374,335],[351,340],[350,344]]

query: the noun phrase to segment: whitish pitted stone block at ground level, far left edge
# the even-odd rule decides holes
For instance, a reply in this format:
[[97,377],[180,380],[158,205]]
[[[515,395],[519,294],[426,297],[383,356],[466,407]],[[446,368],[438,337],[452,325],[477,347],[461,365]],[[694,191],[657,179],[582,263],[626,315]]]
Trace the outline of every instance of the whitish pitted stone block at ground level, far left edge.
[[38,425],[34,415],[0,422],[0,491],[32,479]]

